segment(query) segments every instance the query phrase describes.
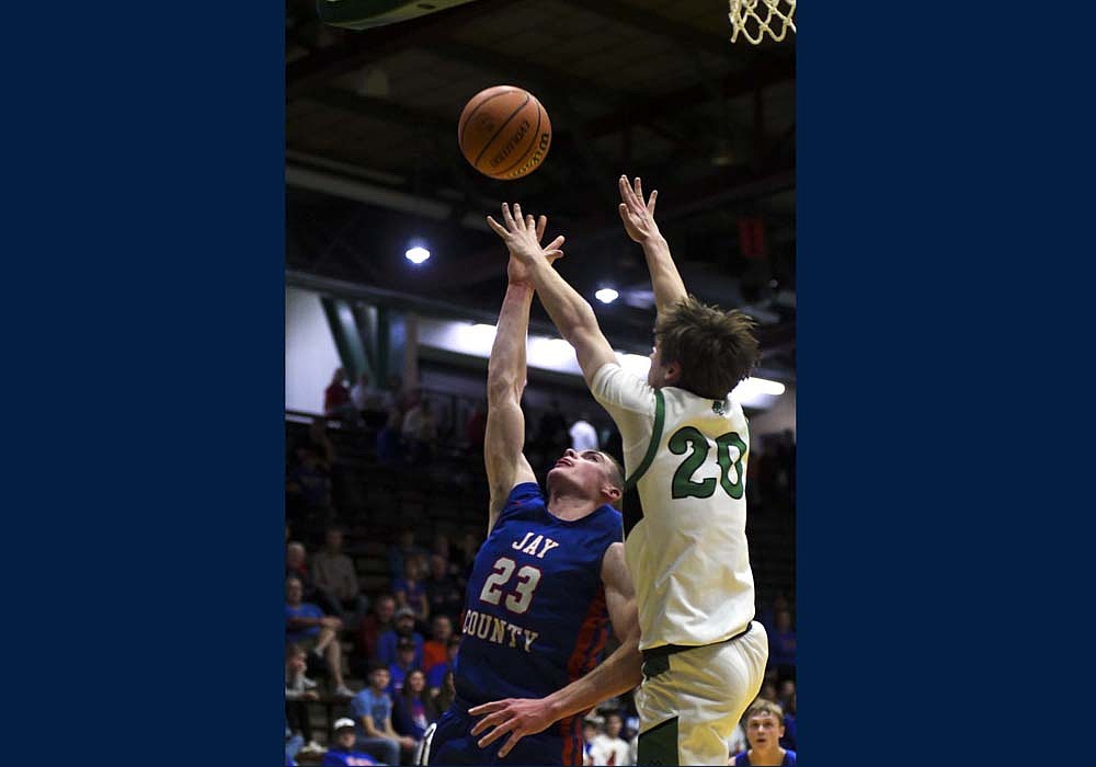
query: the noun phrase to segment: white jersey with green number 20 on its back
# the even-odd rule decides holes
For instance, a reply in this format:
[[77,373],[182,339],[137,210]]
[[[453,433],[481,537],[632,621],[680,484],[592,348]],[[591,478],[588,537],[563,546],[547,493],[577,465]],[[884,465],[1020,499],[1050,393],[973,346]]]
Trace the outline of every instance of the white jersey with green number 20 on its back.
[[591,391],[624,442],[625,554],[640,650],[740,633],[754,616],[742,407],[730,396],[654,389],[613,363],[597,370]]

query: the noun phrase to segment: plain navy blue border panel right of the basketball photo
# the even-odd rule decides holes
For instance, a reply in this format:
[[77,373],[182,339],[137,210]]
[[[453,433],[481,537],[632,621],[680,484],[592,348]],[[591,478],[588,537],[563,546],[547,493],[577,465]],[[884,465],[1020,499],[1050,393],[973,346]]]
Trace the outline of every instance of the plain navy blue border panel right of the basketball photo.
[[1049,711],[1086,708],[1063,634],[1088,512],[1062,488],[1092,455],[1064,360],[1091,346],[1069,336],[1092,327],[1071,105],[1093,26],[1015,2],[797,14],[800,751],[1027,760]]

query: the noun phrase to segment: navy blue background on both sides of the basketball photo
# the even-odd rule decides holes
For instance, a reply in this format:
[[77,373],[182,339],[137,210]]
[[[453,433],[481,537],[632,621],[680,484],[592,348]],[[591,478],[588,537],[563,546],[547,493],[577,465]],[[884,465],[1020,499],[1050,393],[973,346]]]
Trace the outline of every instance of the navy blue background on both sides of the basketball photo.
[[[282,758],[284,9],[260,5],[7,14],[13,763]],[[1015,384],[1087,321],[1084,259],[1047,257],[1088,215],[1091,119],[1059,105],[1091,11],[1040,35],[1027,4],[853,5],[797,11],[799,739],[812,764],[1015,758],[1040,699],[1073,732],[1087,666],[1051,621],[1087,538],[1046,478],[1084,470],[1091,415],[1052,433]],[[1048,291],[1051,318],[1021,300]]]

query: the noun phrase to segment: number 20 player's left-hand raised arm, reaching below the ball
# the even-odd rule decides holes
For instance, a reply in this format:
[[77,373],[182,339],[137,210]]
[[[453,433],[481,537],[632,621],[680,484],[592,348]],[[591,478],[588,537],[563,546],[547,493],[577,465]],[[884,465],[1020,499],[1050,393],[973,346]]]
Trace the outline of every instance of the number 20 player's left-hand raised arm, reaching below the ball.
[[526,267],[540,302],[560,334],[574,346],[582,375],[587,385],[592,384],[594,374],[602,365],[616,362],[616,354],[602,334],[594,310],[551,267],[552,260],[541,254],[532,216],[523,218],[520,205],[514,205],[514,214],[511,215],[510,206],[503,203],[502,220],[505,226],[487,217],[488,224],[510,249],[511,257]]

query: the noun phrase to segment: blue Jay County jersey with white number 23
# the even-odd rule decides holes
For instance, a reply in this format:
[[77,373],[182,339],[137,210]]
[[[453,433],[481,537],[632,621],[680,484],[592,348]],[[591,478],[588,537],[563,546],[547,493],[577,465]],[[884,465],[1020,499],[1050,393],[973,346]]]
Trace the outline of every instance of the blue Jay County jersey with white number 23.
[[[468,581],[458,706],[540,698],[597,664],[609,629],[602,559],[623,535],[612,506],[559,519],[537,484],[514,486]],[[564,725],[579,733],[573,719]]]

